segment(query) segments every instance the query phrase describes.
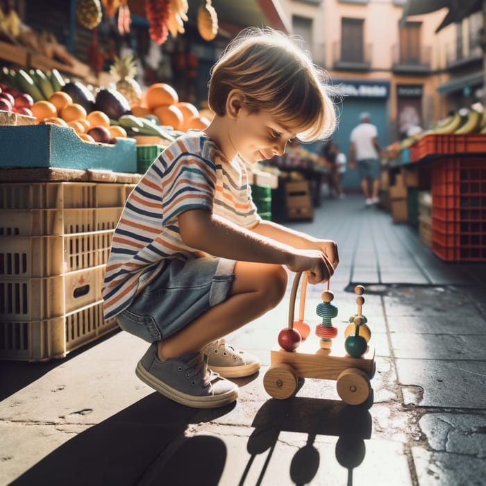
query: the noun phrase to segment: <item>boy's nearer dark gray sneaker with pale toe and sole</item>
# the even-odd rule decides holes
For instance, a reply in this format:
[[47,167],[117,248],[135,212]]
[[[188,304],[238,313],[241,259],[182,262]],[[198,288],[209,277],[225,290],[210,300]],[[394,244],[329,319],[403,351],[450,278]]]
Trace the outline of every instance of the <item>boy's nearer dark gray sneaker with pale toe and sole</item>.
[[157,392],[188,407],[222,407],[238,398],[237,385],[210,371],[203,353],[161,362],[153,343],[138,362],[135,374]]

